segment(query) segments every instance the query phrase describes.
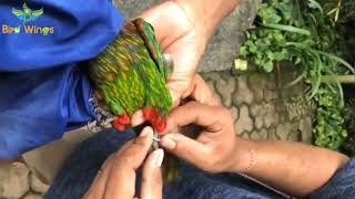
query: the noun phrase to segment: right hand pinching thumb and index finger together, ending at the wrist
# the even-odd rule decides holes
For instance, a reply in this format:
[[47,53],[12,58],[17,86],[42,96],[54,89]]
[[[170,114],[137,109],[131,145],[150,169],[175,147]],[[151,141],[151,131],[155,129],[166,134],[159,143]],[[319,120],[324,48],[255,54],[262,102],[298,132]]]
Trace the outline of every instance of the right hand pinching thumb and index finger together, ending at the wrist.
[[250,158],[248,150],[239,147],[244,140],[235,135],[231,113],[213,98],[211,90],[199,75],[194,77],[189,93],[193,102],[173,109],[166,132],[192,124],[202,127],[199,136],[192,139],[184,135],[185,132],[168,134],[162,137],[161,146],[209,172],[245,169],[248,161],[240,158]]

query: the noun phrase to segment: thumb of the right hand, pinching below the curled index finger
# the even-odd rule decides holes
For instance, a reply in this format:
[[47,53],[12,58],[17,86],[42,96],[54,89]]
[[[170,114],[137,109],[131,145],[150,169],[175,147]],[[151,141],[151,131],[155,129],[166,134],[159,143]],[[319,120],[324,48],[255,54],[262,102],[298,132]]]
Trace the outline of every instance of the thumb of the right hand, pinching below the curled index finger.
[[171,154],[200,167],[209,155],[209,147],[182,134],[168,134],[161,138],[160,144]]

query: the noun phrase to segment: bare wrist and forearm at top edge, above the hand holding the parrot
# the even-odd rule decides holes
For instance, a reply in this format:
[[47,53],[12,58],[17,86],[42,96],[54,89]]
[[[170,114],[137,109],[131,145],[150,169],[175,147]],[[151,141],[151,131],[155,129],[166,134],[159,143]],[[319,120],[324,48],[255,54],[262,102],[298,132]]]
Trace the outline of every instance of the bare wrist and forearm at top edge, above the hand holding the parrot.
[[207,39],[219,23],[229,15],[239,0],[174,0],[186,13],[190,21],[203,29]]

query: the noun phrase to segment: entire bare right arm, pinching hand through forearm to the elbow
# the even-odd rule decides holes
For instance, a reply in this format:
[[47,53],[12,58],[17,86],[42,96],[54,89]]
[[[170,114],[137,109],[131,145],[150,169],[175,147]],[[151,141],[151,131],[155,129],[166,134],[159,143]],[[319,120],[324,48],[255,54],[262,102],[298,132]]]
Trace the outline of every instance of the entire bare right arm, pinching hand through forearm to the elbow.
[[194,124],[203,127],[196,132],[200,136],[191,139],[171,133],[161,139],[162,147],[180,158],[209,172],[244,172],[294,196],[321,188],[348,161],[339,153],[301,143],[237,137],[231,113],[214,103],[211,91],[199,80],[191,97],[205,104],[190,102],[173,109],[166,132]]

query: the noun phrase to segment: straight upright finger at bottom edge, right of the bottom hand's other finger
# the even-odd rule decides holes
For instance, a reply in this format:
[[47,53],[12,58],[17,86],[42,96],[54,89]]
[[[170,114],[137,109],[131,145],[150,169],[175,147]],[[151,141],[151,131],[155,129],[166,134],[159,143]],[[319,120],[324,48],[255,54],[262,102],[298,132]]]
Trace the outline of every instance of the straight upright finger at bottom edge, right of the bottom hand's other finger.
[[164,150],[154,150],[145,160],[142,178],[142,199],[163,198],[163,179],[161,166],[164,159]]

